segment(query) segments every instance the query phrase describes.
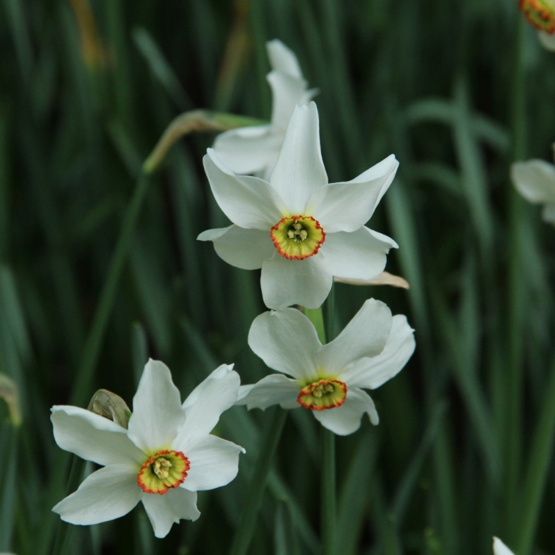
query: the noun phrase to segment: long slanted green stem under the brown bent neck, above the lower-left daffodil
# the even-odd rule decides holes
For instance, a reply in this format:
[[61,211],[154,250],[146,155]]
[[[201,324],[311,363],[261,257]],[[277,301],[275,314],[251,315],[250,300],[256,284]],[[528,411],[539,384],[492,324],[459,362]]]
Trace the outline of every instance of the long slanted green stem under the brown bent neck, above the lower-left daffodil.
[[110,261],[108,278],[106,278],[104,282],[99,304],[94,313],[91,329],[87,336],[87,341],[85,342],[85,348],[83,349],[83,358],[78,368],[76,383],[74,384],[73,391],[71,391],[71,404],[75,404],[78,407],[87,404],[92,394],[91,389],[94,368],[96,368],[96,363],[99,360],[102,340],[104,338],[106,326],[108,325],[108,318],[112,311],[112,305],[114,304],[119,278],[121,277],[123,265],[128,257],[131,240],[135,232],[135,225],[137,224],[144,197],[148,190],[148,184],[148,176],[142,173],[137,180],[137,185],[135,185],[133,198],[131,198],[131,202],[127,208],[116,249]]

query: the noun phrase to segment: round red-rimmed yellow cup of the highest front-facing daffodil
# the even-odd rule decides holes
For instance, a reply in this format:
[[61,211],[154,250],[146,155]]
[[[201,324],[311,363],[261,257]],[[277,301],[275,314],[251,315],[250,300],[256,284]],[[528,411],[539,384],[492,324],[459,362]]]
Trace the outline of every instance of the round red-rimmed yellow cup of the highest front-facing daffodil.
[[271,228],[270,237],[282,257],[302,260],[318,253],[325,233],[312,216],[287,216]]

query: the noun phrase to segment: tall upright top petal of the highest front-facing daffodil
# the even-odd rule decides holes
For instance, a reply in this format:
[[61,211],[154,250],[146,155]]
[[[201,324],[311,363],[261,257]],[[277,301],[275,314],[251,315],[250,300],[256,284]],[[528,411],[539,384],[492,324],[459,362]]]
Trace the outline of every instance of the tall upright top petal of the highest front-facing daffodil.
[[293,110],[270,183],[285,201],[289,216],[305,214],[309,198],[327,184],[314,102]]

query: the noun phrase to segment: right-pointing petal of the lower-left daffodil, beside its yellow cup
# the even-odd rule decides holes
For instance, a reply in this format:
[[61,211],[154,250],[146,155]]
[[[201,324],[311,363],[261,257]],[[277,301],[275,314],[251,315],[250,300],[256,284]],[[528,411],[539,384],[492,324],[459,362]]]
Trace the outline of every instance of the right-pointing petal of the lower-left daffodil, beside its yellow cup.
[[229,484],[239,470],[239,453],[243,447],[216,436],[199,438],[185,455],[191,463],[187,477],[181,485],[189,491],[212,490]]

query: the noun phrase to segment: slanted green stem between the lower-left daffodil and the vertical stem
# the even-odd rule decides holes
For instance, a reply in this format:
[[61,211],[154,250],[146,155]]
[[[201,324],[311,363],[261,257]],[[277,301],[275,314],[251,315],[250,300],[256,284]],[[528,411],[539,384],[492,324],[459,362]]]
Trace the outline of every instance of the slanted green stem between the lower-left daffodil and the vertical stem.
[[255,464],[253,481],[250,482],[246,495],[244,508],[239,520],[239,528],[233,538],[230,555],[246,555],[250,540],[253,538],[257,515],[259,513],[262,496],[268,481],[268,472],[275,454],[275,450],[280,443],[287,411],[281,407],[274,407],[273,413],[266,423],[264,429],[264,439]]

